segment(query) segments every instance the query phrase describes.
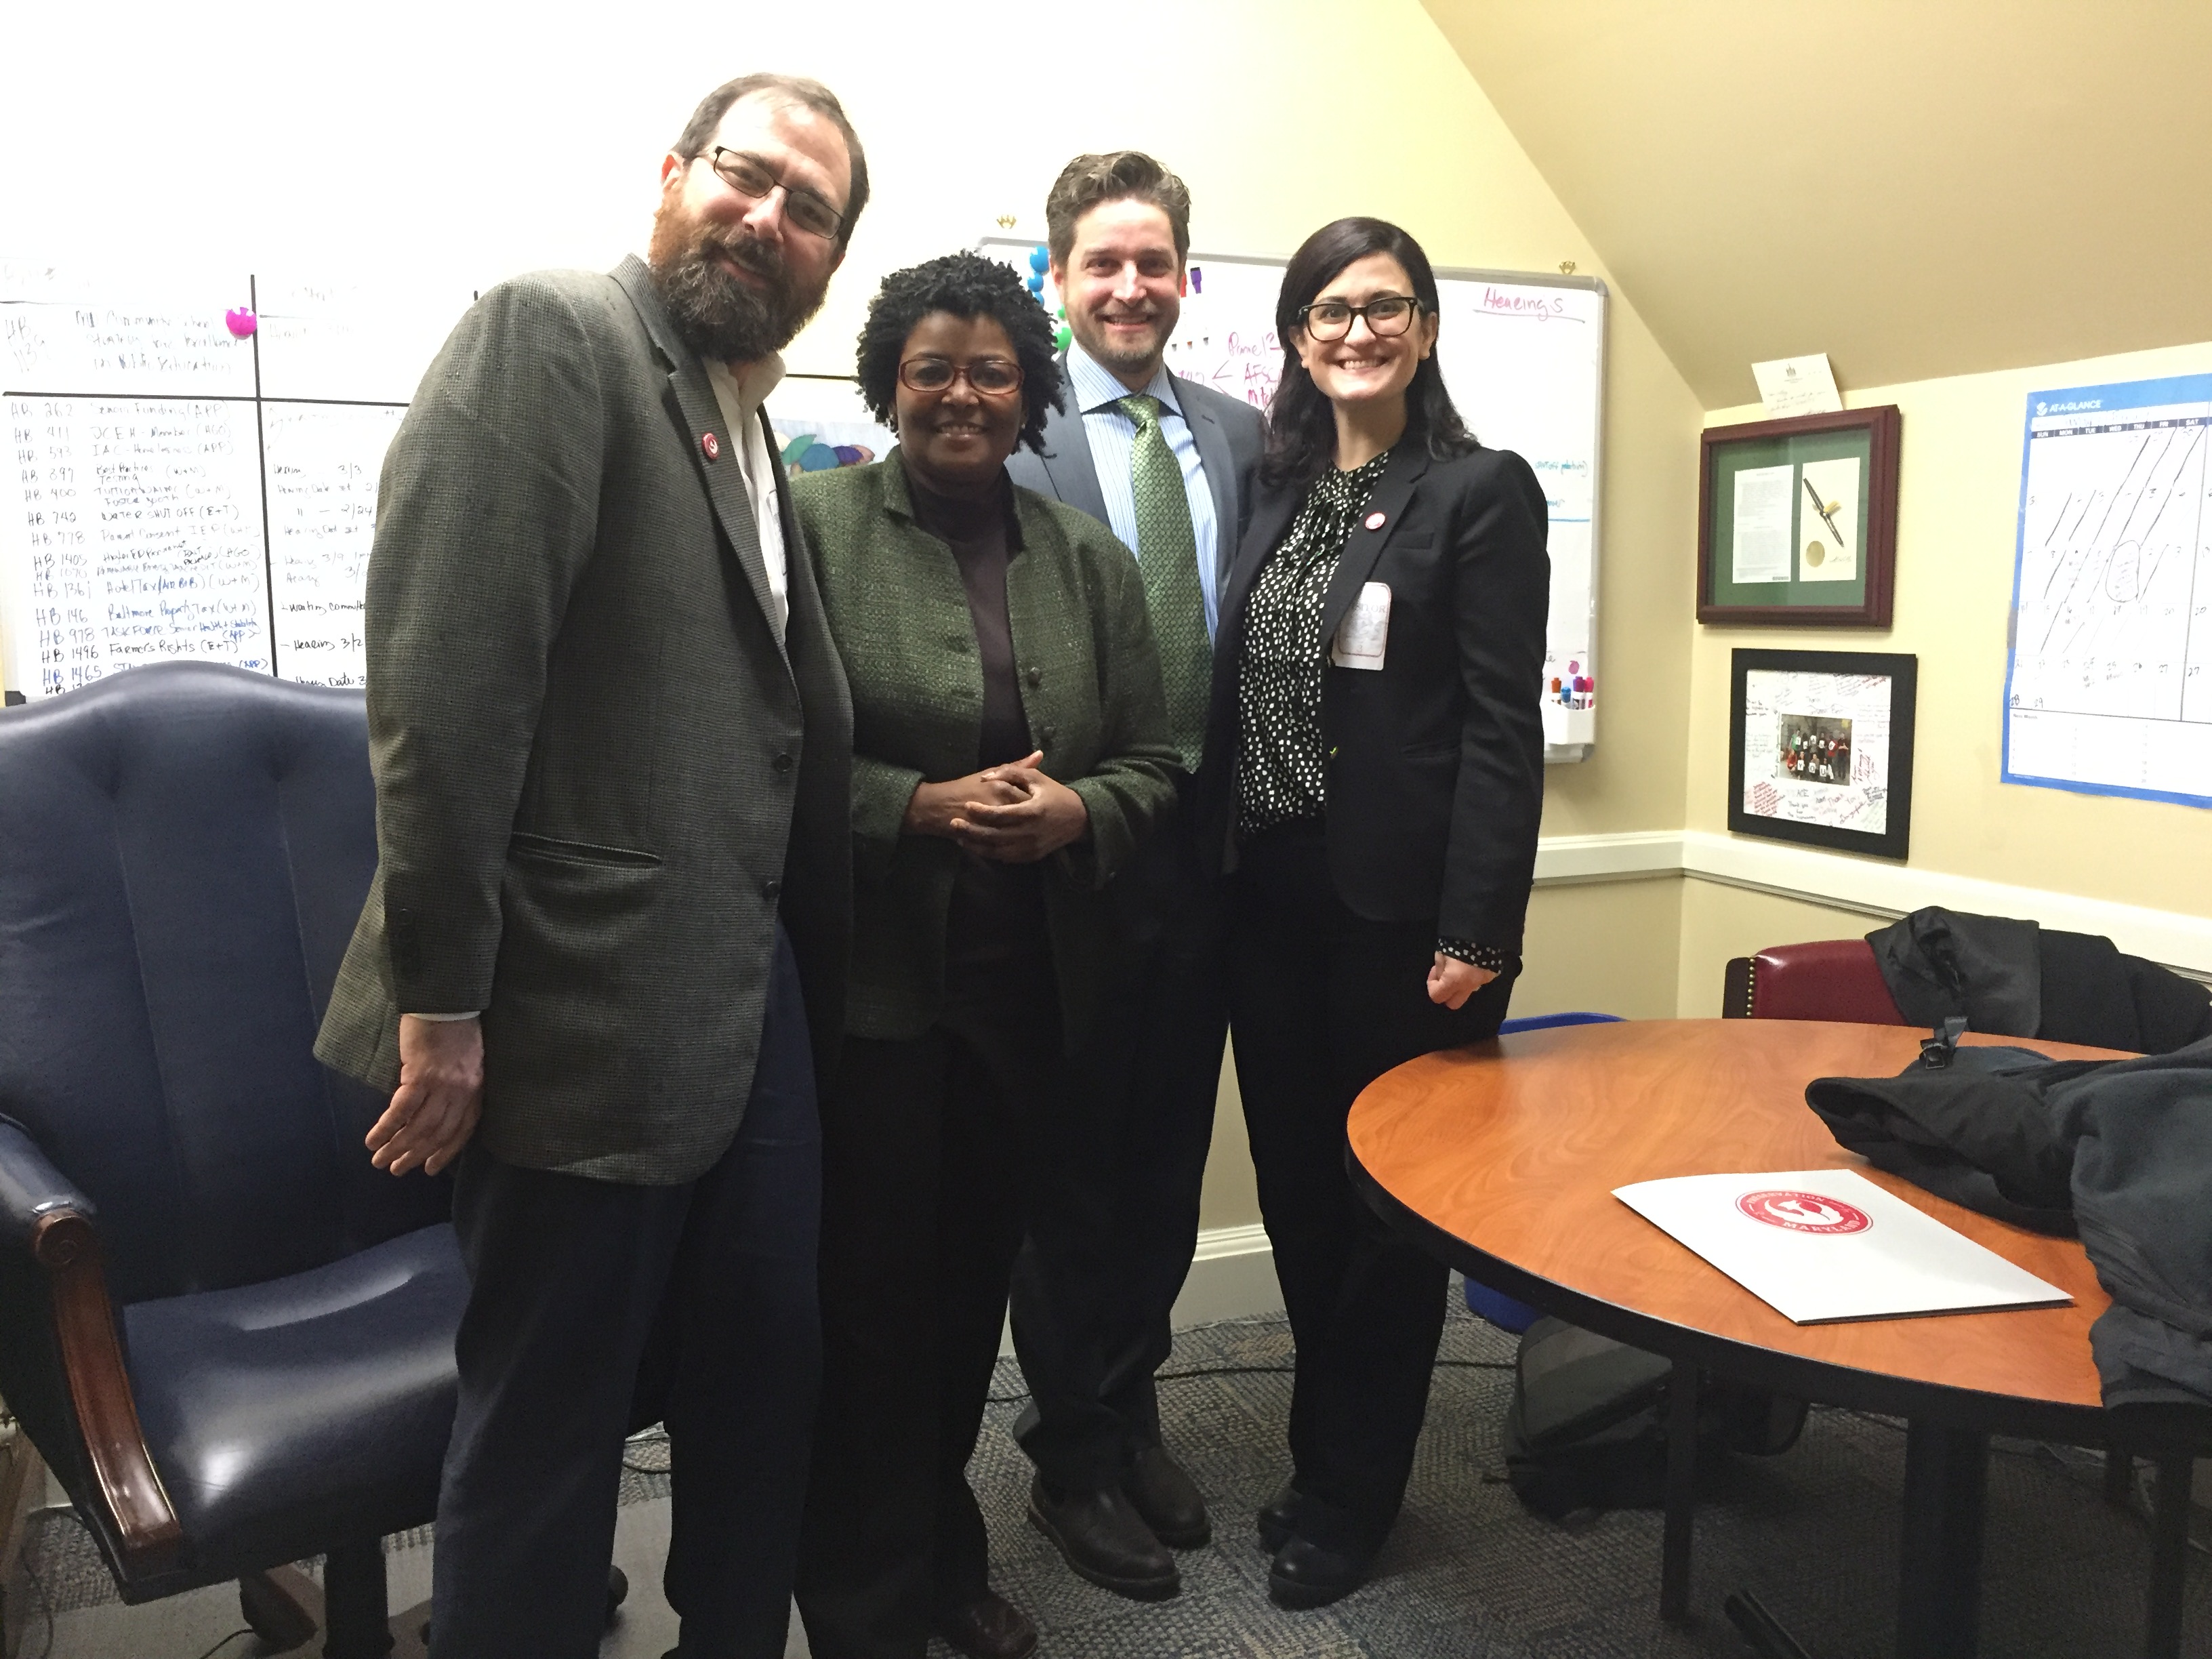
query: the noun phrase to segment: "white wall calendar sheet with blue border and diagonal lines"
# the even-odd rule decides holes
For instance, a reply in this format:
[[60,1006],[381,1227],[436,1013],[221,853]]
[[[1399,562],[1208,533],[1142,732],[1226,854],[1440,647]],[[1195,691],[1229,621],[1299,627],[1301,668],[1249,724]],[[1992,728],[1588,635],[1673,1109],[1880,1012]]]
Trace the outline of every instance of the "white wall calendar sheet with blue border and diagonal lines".
[[2004,781],[2212,807],[2212,374],[2028,396]]

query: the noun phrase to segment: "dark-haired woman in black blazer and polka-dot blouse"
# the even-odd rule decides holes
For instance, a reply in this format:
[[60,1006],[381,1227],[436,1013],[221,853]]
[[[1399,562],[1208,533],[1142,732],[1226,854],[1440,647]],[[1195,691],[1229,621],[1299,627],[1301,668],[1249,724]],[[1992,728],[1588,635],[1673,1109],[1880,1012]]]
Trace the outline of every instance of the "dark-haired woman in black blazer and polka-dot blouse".
[[1232,891],[1230,1022],[1296,1336],[1270,1590],[1360,1584],[1405,1498],[1447,1272],[1345,1175],[1352,1099],[1498,1033],[1544,801],[1551,562],[1528,465],[1436,365],[1436,276],[1338,219],[1276,301],[1283,380],[1214,650],[1201,812]]

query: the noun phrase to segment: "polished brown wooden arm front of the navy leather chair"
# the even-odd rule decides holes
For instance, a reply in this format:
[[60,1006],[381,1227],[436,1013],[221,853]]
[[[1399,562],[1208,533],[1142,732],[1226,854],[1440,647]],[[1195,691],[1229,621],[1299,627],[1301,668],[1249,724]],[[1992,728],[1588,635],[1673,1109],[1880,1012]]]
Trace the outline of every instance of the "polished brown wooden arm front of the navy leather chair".
[[46,1270],[62,1374],[124,1566],[133,1577],[166,1573],[177,1566],[184,1526],[155,1473],[131,1398],[108,1281],[100,1270],[100,1234],[77,1210],[53,1210],[31,1228],[31,1256]]

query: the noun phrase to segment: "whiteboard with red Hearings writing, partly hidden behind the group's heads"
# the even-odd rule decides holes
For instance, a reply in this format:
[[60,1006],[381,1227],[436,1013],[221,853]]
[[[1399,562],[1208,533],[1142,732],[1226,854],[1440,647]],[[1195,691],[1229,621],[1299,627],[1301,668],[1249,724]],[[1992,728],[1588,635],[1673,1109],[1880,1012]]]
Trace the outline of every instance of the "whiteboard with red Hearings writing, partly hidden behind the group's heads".
[[[984,237],[980,250],[1024,276],[1035,241]],[[1283,369],[1274,301],[1281,259],[1192,252],[1168,367],[1263,409]],[[1606,389],[1606,285],[1595,276],[1438,270],[1436,358],[1467,427],[1511,449],[1551,507],[1551,622],[1544,633],[1544,754],[1579,761],[1597,737],[1597,502]],[[1037,294],[1060,316],[1042,276]],[[1557,692],[1553,681],[1562,681]],[[1588,692],[1573,681],[1588,679]]]

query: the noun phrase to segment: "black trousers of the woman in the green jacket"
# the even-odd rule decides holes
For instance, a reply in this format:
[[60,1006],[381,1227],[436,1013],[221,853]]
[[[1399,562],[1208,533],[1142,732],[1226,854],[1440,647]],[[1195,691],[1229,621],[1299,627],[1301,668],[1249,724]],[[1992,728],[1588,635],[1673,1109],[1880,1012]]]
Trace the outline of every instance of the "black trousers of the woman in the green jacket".
[[[823,1409],[799,1557],[814,1659],[922,1659],[938,1610],[989,1588],[967,1462],[1015,1250],[1037,1243],[1053,1307],[1082,1305],[1097,1272],[1097,1126],[1064,1084],[1051,960],[947,978],[925,1035],[847,1037],[823,1102]],[[1073,1356],[1055,1422],[1110,1462],[1097,1354],[1051,1340]]]

